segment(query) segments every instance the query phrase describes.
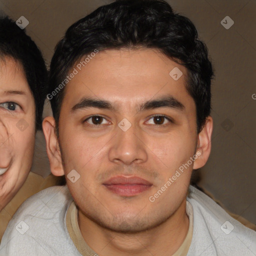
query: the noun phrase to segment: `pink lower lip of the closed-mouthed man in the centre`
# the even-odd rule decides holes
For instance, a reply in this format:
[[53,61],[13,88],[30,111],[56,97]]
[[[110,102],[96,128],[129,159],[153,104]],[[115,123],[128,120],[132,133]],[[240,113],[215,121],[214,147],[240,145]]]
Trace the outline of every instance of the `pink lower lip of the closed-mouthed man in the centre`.
[[111,192],[116,193],[121,196],[133,196],[140,194],[151,187],[151,185],[143,184],[112,184],[104,186]]

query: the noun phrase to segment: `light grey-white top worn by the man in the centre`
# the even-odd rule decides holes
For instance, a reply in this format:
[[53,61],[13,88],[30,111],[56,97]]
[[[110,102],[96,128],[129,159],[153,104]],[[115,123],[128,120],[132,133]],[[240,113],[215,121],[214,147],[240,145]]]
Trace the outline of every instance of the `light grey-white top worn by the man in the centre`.
[[[192,186],[189,186],[186,199],[189,221],[191,217],[193,219],[192,239],[188,239],[187,235],[185,244],[181,245],[184,247],[190,243],[187,256],[256,255],[255,231],[243,226]],[[66,186],[53,186],[29,197],[7,226],[0,244],[0,256],[96,256],[86,243],[86,252],[81,254],[72,240],[74,238],[70,237],[66,215],[72,201]],[[189,230],[190,224],[191,221]]]

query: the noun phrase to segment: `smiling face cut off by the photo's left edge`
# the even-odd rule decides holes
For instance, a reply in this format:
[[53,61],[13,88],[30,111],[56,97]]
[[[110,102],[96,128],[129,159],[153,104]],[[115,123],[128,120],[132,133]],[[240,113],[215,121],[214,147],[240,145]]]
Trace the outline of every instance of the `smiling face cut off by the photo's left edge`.
[[16,61],[0,61],[0,210],[24,183],[32,164],[35,104]]

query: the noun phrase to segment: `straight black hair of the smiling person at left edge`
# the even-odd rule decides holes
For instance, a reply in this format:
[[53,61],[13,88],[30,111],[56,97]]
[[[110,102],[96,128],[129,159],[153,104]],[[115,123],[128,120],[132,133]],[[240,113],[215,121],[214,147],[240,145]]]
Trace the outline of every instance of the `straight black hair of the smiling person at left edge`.
[[8,16],[0,17],[0,60],[13,58],[23,68],[35,103],[35,127],[41,129],[48,71],[42,54],[24,29]]

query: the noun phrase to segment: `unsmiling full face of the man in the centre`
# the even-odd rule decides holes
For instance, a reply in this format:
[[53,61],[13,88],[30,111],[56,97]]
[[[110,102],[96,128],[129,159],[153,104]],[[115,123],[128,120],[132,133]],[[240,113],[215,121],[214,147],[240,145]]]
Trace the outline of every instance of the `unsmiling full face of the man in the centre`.
[[[153,49],[100,51],[81,70],[74,67],[78,73],[61,105],[59,146],[79,216],[121,232],[162,223],[184,202],[193,163],[153,202],[149,197],[197,145],[185,68]],[[183,73],[177,80],[169,75],[174,67]],[[112,108],[85,99],[108,101]]]

